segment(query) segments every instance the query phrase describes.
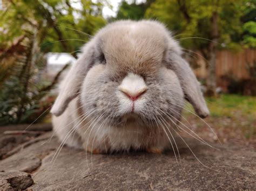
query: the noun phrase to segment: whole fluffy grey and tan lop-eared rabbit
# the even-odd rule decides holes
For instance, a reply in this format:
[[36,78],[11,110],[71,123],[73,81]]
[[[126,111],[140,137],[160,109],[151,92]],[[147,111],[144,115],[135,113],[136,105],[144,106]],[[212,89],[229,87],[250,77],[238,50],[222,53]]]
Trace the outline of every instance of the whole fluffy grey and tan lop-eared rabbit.
[[113,22],[82,48],[52,106],[62,143],[91,153],[173,148],[184,100],[209,115],[199,82],[166,27]]

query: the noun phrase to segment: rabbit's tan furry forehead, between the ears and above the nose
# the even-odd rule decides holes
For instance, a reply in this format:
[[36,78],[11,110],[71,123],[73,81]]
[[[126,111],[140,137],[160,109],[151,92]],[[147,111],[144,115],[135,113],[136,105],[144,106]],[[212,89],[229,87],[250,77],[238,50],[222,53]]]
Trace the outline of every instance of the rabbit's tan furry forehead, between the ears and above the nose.
[[166,40],[149,26],[113,27],[102,36],[102,49],[107,62],[120,67],[156,66],[161,63]]

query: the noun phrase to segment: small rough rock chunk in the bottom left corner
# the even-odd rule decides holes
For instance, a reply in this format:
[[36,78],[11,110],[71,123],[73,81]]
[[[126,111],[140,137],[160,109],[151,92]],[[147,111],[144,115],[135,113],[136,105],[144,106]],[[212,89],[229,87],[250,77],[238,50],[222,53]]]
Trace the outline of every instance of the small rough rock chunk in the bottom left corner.
[[19,171],[0,172],[1,190],[23,190],[33,184],[31,175]]

